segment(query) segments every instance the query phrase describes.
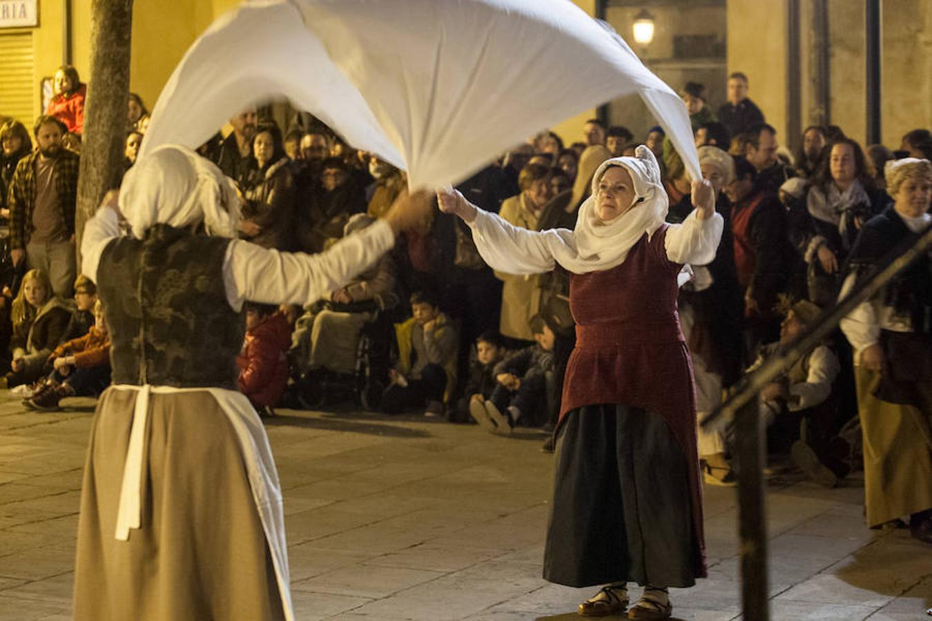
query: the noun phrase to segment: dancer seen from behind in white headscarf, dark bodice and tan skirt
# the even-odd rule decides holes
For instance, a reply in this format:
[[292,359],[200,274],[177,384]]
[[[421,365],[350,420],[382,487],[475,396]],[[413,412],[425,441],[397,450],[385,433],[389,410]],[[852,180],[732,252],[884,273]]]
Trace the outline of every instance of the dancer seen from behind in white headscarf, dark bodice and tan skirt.
[[233,239],[233,183],[190,149],[162,146],[130,169],[82,243],[113,385],[84,473],[76,620],[294,619],[278,474],[236,385],[242,304],[317,300],[429,209],[405,195],[331,250],[290,254]]

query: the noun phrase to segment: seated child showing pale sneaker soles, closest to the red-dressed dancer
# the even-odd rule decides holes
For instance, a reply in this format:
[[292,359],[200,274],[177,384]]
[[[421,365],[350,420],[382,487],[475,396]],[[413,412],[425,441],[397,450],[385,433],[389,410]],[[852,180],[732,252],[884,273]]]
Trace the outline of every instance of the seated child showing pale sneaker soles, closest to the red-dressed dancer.
[[490,398],[470,402],[470,414],[493,433],[508,435],[521,421],[534,425],[548,418],[547,380],[554,371],[554,331],[540,315],[530,319],[536,344],[520,349],[495,367]]

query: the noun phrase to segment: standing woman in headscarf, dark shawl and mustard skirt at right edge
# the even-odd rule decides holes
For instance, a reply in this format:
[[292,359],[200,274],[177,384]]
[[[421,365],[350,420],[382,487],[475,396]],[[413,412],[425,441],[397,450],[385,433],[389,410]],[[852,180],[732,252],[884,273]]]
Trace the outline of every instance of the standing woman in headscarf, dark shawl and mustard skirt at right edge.
[[[847,294],[884,256],[932,224],[932,163],[888,162],[892,207],[861,227],[848,255]],[[869,526],[910,517],[912,535],[932,543],[932,258],[918,261],[842,320],[855,351],[857,413],[864,437]]]

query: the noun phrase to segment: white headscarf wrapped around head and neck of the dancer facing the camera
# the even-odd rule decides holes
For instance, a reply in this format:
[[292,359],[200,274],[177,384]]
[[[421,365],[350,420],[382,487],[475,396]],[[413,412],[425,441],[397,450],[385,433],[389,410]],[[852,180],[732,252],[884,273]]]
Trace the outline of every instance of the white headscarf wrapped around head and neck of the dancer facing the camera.
[[[622,215],[602,222],[596,215],[598,182],[612,166],[621,166],[631,175],[635,186],[635,203]],[[583,201],[573,236],[576,256],[560,260],[570,272],[584,274],[615,267],[624,263],[628,250],[644,236],[652,236],[666,218],[669,199],[660,181],[660,167],[651,150],[638,145],[634,157],[613,157],[596,170],[592,179],[592,195]],[[569,263],[569,264],[567,264]]]

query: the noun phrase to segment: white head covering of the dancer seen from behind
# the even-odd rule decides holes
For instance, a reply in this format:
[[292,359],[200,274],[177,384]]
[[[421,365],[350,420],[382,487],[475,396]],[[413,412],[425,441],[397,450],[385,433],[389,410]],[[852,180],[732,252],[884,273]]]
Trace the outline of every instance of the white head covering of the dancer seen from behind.
[[240,224],[233,181],[179,144],[162,145],[136,161],[123,178],[119,209],[139,239],[157,223],[184,228],[203,221],[209,235],[223,237],[235,237]]

